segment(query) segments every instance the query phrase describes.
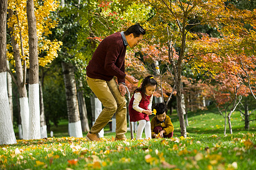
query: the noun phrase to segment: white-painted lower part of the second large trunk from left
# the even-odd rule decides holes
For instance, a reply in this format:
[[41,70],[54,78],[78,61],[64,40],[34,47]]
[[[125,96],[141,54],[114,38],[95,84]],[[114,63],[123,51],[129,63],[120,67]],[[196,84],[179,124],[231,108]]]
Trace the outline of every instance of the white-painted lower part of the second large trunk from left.
[[30,108],[30,133],[29,139],[40,139],[40,103],[39,84],[28,84],[29,108]]

